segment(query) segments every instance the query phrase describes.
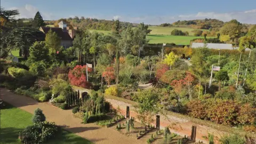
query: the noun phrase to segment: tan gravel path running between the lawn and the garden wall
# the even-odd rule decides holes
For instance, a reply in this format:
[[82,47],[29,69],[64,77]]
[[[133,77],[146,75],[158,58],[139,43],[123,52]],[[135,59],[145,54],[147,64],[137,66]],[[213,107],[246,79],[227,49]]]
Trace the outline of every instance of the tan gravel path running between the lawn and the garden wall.
[[73,116],[71,110],[62,110],[53,107],[48,102],[37,102],[32,98],[18,95],[6,89],[0,89],[1,99],[29,113],[34,113],[36,108],[43,110],[46,120],[55,122],[64,129],[73,132],[80,137],[90,140],[94,143],[146,143],[146,141],[127,137],[114,129],[100,127],[94,123],[82,124],[82,120]]

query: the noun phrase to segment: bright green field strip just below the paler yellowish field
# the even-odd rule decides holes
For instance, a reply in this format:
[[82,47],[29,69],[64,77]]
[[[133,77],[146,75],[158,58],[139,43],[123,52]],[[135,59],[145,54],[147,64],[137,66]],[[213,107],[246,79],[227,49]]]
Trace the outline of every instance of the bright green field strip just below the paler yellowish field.
[[[171,36],[171,35],[148,35],[150,44],[155,43],[175,43],[176,45],[189,45],[194,38],[204,38],[199,36]],[[212,38],[212,37],[207,37]]]

